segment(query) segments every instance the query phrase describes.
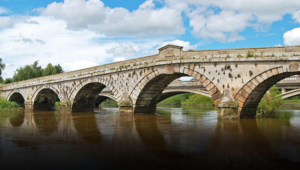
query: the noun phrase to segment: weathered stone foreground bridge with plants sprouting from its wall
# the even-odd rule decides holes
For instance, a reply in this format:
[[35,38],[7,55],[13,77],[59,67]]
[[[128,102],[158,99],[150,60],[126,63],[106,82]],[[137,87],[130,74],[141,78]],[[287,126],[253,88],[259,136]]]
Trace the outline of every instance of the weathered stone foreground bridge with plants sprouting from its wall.
[[108,87],[121,112],[149,114],[168,84],[192,76],[211,95],[219,117],[239,118],[254,116],[272,85],[300,74],[300,46],[182,49],[167,45],[152,56],[3,84],[1,96],[24,100],[26,110],[53,109],[60,101],[65,111],[93,111],[98,94]]

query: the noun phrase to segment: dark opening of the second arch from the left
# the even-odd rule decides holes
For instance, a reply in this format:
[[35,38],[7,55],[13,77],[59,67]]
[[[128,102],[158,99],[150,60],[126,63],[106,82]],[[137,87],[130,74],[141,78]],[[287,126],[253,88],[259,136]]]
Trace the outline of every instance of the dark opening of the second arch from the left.
[[60,102],[58,95],[50,88],[44,88],[37,93],[32,110],[55,110],[55,102]]

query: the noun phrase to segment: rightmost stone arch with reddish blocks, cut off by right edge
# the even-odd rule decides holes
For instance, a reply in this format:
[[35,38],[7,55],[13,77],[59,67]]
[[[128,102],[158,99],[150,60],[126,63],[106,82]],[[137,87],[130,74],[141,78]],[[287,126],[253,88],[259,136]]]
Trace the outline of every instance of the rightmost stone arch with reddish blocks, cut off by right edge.
[[255,116],[258,103],[270,87],[284,78],[298,74],[299,71],[289,72],[279,66],[263,71],[249,80],[234,96],[240,117]]

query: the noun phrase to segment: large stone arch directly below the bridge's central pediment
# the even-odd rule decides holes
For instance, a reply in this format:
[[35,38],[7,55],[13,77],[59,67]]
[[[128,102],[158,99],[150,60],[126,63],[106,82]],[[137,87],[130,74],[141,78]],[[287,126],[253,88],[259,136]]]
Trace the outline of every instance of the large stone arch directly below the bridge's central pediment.
[[167,64],[165,69],[154,69],[144,76],[130,92],[129,97],[133,102],[133,113],[155,113],[156,104],[163,90],[176,78],[192,76],[206,88],[212,96],[215,105],[221,97],[217,87],[202,73],[180,64]]

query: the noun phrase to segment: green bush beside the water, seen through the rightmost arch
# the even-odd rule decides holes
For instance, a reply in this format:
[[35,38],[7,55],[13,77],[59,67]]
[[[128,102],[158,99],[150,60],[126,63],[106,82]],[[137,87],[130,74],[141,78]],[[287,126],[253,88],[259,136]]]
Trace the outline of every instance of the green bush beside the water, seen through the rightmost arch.
[[281,96],[276,97],[281,92],[274,85],[269,91],[262,97],[257,107],[257,113],[261,114],[272,114],[275,113],[283,105],[283,100]]

